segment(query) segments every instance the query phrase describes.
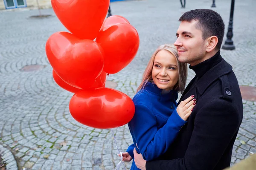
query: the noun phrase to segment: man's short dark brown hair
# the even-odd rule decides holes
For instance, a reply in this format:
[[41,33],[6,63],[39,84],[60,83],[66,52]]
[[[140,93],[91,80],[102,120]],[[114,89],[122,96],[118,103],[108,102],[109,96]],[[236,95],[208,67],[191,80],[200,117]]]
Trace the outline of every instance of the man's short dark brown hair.
[[225,25],[221,16],[210,9],[195,9],[184,13],[179,21],[192,22],[198,21],[197,28],[203,32],[203,39],[215,35],[218,37],[218,44],[215,49],[221,49],[221,43],[224,37]]

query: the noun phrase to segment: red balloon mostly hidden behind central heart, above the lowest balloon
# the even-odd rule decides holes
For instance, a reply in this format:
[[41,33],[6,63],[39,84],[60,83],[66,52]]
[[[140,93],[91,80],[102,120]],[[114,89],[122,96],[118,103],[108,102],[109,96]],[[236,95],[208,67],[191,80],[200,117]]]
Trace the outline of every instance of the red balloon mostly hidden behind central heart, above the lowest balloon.
[[[107,73],[102,71],[99,77],[95,79],[95,83],[93,84],[92,88],[105,87],[106,76],[107,76]],[[52,70],[52,77],[61,88],[64,88],[65,90],[70,91],[71,93],[77,93],[78,91],[81,91],[80,88],[75,88],[72,85],[69,85],[66,82],[64,82],[63,79],[61,79],[61,77],[59,77],[54,70]]]

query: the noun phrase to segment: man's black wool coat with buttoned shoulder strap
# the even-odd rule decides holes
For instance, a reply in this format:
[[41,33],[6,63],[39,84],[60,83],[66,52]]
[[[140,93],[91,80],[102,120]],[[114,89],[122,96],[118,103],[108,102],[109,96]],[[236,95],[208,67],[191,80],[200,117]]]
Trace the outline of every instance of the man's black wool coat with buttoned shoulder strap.
[[230,166],[233,144],[243,118],[238,81],[223,58],[180,101],[195,95],[197,105],[175,142],[159,159],[147,161],[146,170],[222,170]]

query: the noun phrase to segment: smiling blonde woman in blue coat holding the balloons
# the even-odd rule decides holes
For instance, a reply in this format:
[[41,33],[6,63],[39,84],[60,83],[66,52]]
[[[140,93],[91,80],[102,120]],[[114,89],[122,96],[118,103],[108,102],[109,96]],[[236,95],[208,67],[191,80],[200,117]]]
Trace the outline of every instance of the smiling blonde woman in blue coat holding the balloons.
[[[145,160],[166,152],[196,104],[190,96],[177,107],[178,91],[184,91],[186,77],[187,65],[178,61],[176,47],[165,44],[157,48],[133,98],[135,114],[128,126],[134,144],[122,154],[123,161],[133,159],[134,147]],[[138,170],[134,162],[131,170]]]

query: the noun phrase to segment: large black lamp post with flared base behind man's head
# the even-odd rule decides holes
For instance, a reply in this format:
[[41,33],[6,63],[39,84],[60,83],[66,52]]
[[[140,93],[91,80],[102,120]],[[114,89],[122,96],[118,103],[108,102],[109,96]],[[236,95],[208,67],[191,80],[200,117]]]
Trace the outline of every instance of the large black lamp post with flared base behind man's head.
[[234,15],[234,6],[235,6],[235,0],[231,0],[231,9],[230,9],[230,22],[228,24],[228,30],[227,30],[227,40],[225,41],[225,44],[222,46],[224,50],[234,50],[235,45],[233,44],[233,15]]

